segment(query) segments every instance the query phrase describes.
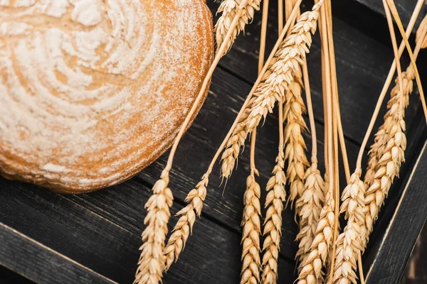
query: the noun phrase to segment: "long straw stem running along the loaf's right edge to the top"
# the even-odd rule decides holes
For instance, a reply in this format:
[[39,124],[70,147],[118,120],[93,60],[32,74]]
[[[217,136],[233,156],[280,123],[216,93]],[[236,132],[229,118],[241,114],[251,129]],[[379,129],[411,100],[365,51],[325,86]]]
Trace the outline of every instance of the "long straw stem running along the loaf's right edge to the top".
[[218,65],[219,60],[222,58],[222,55],[224,51],[227,48],[228,45],[228,39],[231,37],[231,34],[234,31],[234,28],[237,26],[239,19],[243,15],[243,12],[245,11],[246,4],[248,4],[248,0],[242,0],[241,4],[238,7],[238,12],[236,13],[236,16],[234,16],[233,21],[230,24],[230,28],[228,28],[226,38],[227,40],[224,40],[221,44],[221,47],[218,50],[218,53],[215,55],[214,62],[212,62],[211,67],[209,68],[208,73],[206,74],[203,84],[201,85],[201,89],[199,91],[199,94],[197,95],[196,99],[194,100],[193,106],[191,107],[189,113],[187,114],[184,123],[181,125],[181,128],[179,129],[179,133],[175,138],[174,144],[172,145],[171,152],[169,153],[169,158],[167,159],[166,167],[164,168],[165,173],[169,173],[169,171],[172,168],[172,163],[174,161],[174,155],[176,152],[176,148],[178,148],[179,141],[181,141],[182,136],[184,135],[184,132],[187,129],[187,126],[189,125],[189,122],[191,118],[194,116],[194,113],[196,112],[196,109],[199,107],[199,102],[204,97],[204,94],[206,92],[206,89],[209,85],[209,82],[211,80],[212,74],[214,73],[214,70],[216,66]]

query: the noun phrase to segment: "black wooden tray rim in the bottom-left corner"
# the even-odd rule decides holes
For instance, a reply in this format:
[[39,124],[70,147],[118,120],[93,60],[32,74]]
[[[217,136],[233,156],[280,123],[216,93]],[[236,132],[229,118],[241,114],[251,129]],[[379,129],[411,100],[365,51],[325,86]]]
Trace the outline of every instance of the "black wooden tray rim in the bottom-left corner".
[[0,264],[38,283],[116,283],[0,223]]

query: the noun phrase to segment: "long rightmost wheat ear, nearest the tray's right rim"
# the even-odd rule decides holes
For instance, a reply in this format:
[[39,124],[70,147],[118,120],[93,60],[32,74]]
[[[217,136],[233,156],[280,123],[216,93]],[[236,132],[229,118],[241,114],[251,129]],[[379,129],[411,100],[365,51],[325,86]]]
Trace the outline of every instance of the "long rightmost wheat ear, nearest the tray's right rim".
[[381,135],[384,136],[384,153],[378,158],[374,179],[365,193],[364,247],[369,240],[369,234],[390,190],[391,183],[399,175],[401,163],[404,162],[406,149],[404,111],[408,105],[408,95],[413,89],[414,77],[413,68],[409,66],[406,72],[402,73],[403,97],[400,94],[399,82],[396,81],[396,86],[391,90],[391,99],[387,104],[389,111],[384,116],[384,124],[381,128]]

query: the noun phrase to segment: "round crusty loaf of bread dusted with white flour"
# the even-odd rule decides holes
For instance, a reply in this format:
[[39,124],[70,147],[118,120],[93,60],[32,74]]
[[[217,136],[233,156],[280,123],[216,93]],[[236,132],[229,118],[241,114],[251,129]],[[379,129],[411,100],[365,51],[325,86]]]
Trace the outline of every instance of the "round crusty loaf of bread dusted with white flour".
[[1,175],[59,192],[131,178],[171,145],[213,50],[204,0],[0,1]]

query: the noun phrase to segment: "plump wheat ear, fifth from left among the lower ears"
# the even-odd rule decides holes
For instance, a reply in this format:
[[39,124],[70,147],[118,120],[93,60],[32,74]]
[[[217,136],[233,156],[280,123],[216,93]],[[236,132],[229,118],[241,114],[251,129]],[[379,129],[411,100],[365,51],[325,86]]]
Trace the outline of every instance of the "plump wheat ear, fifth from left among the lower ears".
[[313,162],[310,168],[307,169],[304,180],[303,193],[295,202],[295,209],[300,215],[298,222],[300,231],[297,234],[299,249],[296,255],[300,260],[300,271],[309,256],[323,203],[325,202],[325,183],[320,175],[320,171],[317,170],[317,162]]

